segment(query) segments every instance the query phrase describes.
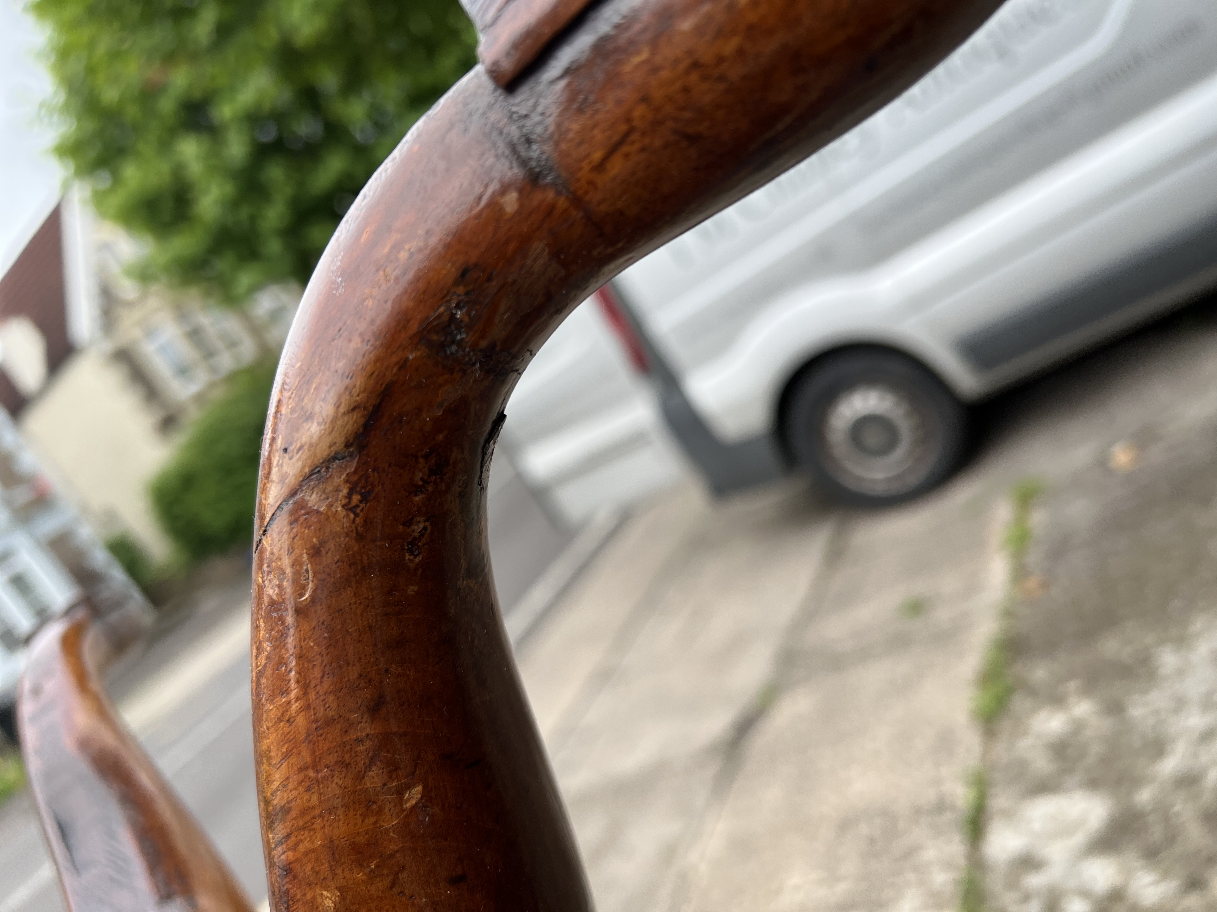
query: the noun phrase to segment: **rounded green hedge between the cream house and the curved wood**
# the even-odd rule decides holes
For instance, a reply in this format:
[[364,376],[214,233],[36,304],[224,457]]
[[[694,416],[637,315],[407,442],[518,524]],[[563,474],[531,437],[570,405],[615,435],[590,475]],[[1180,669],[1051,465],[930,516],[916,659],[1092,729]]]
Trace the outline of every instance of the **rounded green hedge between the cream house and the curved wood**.
[[274,378],[274,364],[232,373],[152,479],[157,518],[187,561],[253,539],[258,455]]

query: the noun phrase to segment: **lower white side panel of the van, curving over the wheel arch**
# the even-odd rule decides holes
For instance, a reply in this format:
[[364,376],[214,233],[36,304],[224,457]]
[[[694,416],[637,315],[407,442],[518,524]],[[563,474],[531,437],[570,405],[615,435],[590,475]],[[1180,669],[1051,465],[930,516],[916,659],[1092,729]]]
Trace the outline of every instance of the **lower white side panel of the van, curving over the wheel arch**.
[[[723,440],[747,439],[765,432],[772,404],[807,356],[823,347],[875,342],[919,358],[963,399],[976,399],[1179,297],[1152,294],[991,371],[965,355],[961,339],[1039,303],[1059,306],[1064,299],[1055,295],[1062,291],[1079,293],[1095,276],[1159,249],[1163,238],[1202,236],[1201,226],[1215,216],[1217,77],[876,269],[809,282],[772,302],[728,356],[689,372],[684,388]],[[933,304],[902,314],[909,299]]]

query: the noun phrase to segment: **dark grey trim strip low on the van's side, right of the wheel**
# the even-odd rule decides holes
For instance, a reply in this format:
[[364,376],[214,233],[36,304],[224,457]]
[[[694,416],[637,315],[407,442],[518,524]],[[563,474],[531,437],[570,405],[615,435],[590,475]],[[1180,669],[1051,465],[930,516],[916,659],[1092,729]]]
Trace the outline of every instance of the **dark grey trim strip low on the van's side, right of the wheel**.
[[964,336],[960,353],[993,371],[1217,266],[1217,218],[1129,257],[1039,304]]

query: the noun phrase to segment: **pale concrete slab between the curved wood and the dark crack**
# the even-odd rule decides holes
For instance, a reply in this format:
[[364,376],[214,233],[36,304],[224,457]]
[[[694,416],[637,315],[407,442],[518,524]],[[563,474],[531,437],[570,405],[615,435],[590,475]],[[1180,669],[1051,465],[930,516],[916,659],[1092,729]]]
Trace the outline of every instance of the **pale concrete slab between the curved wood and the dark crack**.
[[835,517],[684,486],[626,524],[518,651],[601,912],[661,908]]

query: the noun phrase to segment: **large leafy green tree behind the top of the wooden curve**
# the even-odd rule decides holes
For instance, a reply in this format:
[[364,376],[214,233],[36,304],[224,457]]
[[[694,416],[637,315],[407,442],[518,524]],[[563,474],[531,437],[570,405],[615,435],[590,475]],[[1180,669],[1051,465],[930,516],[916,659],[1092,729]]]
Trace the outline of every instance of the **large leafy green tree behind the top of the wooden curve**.
[[56,152],[151,241],[144,280],[305,281],[355,193],[473,63],[456,0],[32,0]]

